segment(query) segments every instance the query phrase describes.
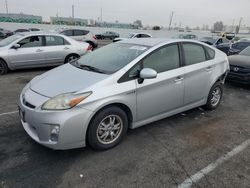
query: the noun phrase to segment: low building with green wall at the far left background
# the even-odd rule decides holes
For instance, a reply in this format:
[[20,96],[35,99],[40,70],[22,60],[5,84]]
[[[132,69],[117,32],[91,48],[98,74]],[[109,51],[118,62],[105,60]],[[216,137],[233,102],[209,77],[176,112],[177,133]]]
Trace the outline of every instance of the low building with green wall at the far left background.
[[16,22],[16,23],[42,23],[42,16],[35,16],[29,14],[1,14],[0,22]]

